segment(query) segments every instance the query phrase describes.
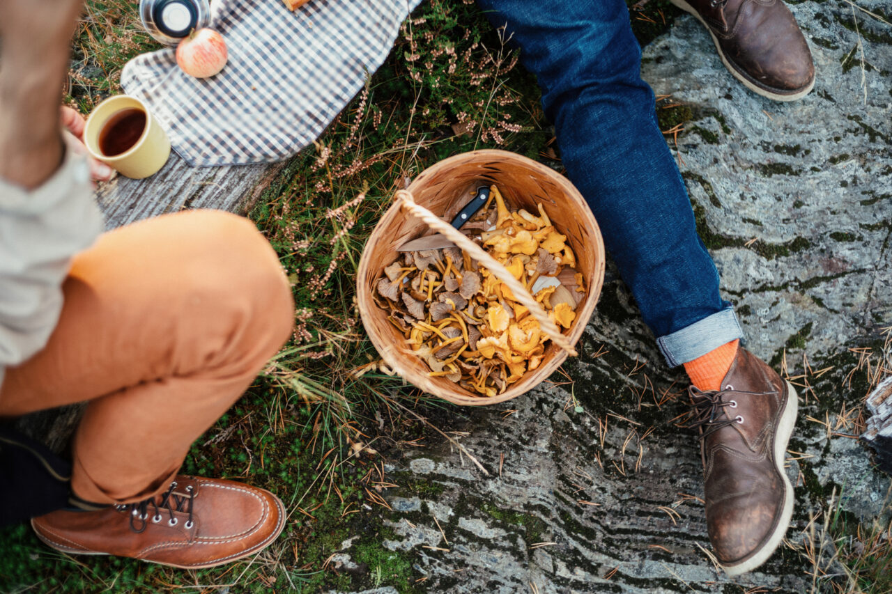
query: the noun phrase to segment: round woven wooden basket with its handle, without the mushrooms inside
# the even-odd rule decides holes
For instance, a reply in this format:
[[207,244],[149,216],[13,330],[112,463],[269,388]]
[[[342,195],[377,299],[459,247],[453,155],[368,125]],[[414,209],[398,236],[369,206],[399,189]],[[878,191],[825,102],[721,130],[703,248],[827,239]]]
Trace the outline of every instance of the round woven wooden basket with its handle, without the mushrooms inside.
[[[544,311],[529,293],[519,288],[521,285],[508,270],[497,262],[493,266],[494,260],[484,260],[482,256],[488,257],[488,254],[439,219],[451,220],[458,214],[458,210],[467,202],[457,200],[458,197],[471,196],[477,186],[491,184],[499,186],[512,209],[536,212],[536,204],[542,202],[549,219],[561,234],[566,235],[567,243],[573,248],[576,269],[582,272],[586,293],[583,301],[576,306],[576,318],[568,334],[554,334],[557,328],[548,318],[542,319]],[[384,267],[397,259],[396,248],[433,232],[449,234],[458,247],[470,252],[492,274],[508,283],[508,288],[517,299],[539,319],[542,331],[552,337],[541,365],[492,398],[467,392],[445,377],[430,377],[425,362],[415,356],[405,337],[388,321],[388,312],[379,308],[373,299],[376,282],[382,276]],[[459,243],[463,239],[466,243]],[[516,153],[487,150],[458,154],[425,169],[406,191],[397,193],[395,203],[378,222],[359,260],[356,280],[359,314],[384,362],[421,390],[461,405],[495,404],[532,389],[560,367],[568,354],[575,354],[574,344],[582,336],[601,292],[604,260],[604,242],[598,223],[582,200],[582,195],[566,177]],[[513,281],[514,285],[509,281]]]

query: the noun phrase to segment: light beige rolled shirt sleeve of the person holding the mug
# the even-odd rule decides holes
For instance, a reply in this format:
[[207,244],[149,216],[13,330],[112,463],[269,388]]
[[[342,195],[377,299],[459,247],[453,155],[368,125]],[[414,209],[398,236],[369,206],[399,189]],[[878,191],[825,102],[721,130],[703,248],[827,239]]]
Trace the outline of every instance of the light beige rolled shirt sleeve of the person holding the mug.
[[35,190],[0,179],[0,384],[5,367],[46,344],[62,310],[71,257],[102,230],[82,156],[69,151]]

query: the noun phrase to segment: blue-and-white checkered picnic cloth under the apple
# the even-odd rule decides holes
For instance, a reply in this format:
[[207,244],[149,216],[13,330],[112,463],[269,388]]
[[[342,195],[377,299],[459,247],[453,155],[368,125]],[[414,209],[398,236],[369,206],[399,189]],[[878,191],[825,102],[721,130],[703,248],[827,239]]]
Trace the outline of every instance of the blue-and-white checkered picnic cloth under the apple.
[[190,165],[279,161],[315,140],[384,62],[421,0],[214,0],[211,28],[229,61],[217,76],[179,70],[176,51],[137,56],[121,73]]

